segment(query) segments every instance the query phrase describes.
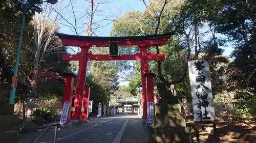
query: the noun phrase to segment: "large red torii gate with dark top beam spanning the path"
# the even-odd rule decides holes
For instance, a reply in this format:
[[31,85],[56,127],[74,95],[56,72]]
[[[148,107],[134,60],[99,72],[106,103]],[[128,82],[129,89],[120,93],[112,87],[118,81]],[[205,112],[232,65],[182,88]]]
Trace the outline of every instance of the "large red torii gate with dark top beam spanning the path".
[[[61,33],[55,33],[64,46],[77,46],[81,48],[81,52],[77,54],[65,54],[62,56],[63,61],[79,61],[78,78],[76,84],[76,94],[73,112],[73,119],[80,120],[82,97],[84,85],[86,83],[86,71],[88,61],[118,61],[118,60],[139,60],[141,64],[141,81],[142,81],[142,104],[143,119],[147,119],[147,102],[154,102],[154,94],[147,94],[146,77],[143,75],[148,73],[147,61],[164,61],[164,54],[152,54],[147,52],[148,47],[165,45],[170,38],[170,34],[164,35],[148,35],[137,37],[90,37],[90,36],[74,36]],[[90,47],[109,47],[110,42],[118,42],[119,47],[139,47],[139,53],[136,54],[119,54],[111,56],[107,54],[92,54],[89,52]]]

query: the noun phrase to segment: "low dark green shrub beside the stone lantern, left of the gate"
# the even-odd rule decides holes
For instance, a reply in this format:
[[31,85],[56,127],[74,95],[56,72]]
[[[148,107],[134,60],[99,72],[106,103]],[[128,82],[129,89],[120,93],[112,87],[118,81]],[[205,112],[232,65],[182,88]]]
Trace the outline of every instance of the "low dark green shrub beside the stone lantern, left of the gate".
[[45,120],[49,120],[54,117],[54,112],[51,109],[38,108],[35,111],[33,111],[32,116],[36,119],[42,118]]

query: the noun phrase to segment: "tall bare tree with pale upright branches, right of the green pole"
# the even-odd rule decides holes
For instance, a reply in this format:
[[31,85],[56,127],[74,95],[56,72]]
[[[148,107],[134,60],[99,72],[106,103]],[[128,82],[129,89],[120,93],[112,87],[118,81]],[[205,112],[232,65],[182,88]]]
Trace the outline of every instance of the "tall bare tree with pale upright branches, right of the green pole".
[[[58,8],[61,5],[61,2],[58,2]],[[54,32],[57,30],[57,17],[52,20],[50,19],[50,15],[53,14],[52,8],[45,4],[42,9],[44,13],[36,14],[31,21],[31,26],[34,28],[32,43],[35,46],[34,60],[33,60],[33,76],[30,80],[32,91],[36,91],[36,82],[38,78],[38,72],[41,65],[42,60],[44,60],[45,56],[49,54],[51,51],[59,48],[61,45],[60,40],[55,38],[55,42],[50,43],[54,37]]]

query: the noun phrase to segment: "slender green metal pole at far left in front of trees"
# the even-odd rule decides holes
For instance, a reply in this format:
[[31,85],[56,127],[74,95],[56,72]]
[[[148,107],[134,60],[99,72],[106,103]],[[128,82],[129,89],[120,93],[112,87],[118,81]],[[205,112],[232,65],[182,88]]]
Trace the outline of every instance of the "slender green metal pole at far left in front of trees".
[[[15,69],[14,69],[14,75],[13,76],[17,76],[17,74],[18,74],[18,63],[19,63],[20,51],[21,51],[21,48],[22,48],[22,37],[23,37],[23,30],[24,30],[24,25],[25,25],[25,18],[26,18],[26,7],[23,9],[23,14],[22,14],[22,24],[20,25],[18,50],[17,50],[16,64],[15,64]],[[10,104],[14,104],[15,93],[16,93],[16,88],[12,88],[11,96],[10,96]]]

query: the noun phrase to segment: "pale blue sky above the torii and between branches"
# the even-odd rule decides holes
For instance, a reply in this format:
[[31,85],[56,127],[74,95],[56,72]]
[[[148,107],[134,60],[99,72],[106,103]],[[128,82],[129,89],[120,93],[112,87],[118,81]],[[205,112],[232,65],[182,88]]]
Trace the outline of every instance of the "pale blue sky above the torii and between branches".
[[[98,1],[98,0],[97,0]],[[69,1],[64,0],[64,2],[62,3],[63,6],[66,6],[69,3]],[[84,3],[84,1],[77,1],[76,4],[73,5],[76,13],[76,18],[83,15],[86,11],[86,7],[87,4]],[[70,23],[74,24],[74,17],[72,14],[72,10],[69,8],[66,8],[65,10],[62,11],[62,16],[65,17],[65,19],[67,19]],[[103,18],[103,16],[101,15],[111,15],[112,17],[110,19],[116,19],[118,17],[123,16],[126,12],[129,11],[135,11],[135,10],[145,10],[145,6],[144,4],[140,1],[140,0],[110,0],[110,2],[108,4],[104,4],[104,5],[99,5],[98,10],[101,10],[102,13],[99,13],[97,16],[95,16],[95,21],[99,21]],[[88,18],[83,18],[83,19],[88,19]],[[59,18],[58,21],[62,24],[60,24],[60,32],[61,33],[65,33],[65,34],[71,34],[73,35],[74,33],[72,32],[71,28],[69,27],[70,24],[63,20],[62,18]],[[77,24],[81,25],[83,27],[79,28],[79,31],[83,31],[86,30],[86,27],[84,26],[84,22],[85,21],[78,21]],[[105,25],[102,28],[99,29],[99,31],[96,32],[97,36],[109,36],[112,26],[113,24],[110,23],[108,25],[106,25],[106,21],[101,22],[101,25]],[[69,25],[69,26],[67,26]],[[85,35],[81,34],[81,35]],[[78,52],[78,48],[74,48],[74,50],[76,52]],[[231,48],[228,47],[225,49],[224,54],[225,55],[229,55],[231,51]],[[71,53],[74,53],[70,50]],[[129,71],[127,71],[125,74],[128,74]],[[120,84],[128,84],[129,82],[122,82]]]

